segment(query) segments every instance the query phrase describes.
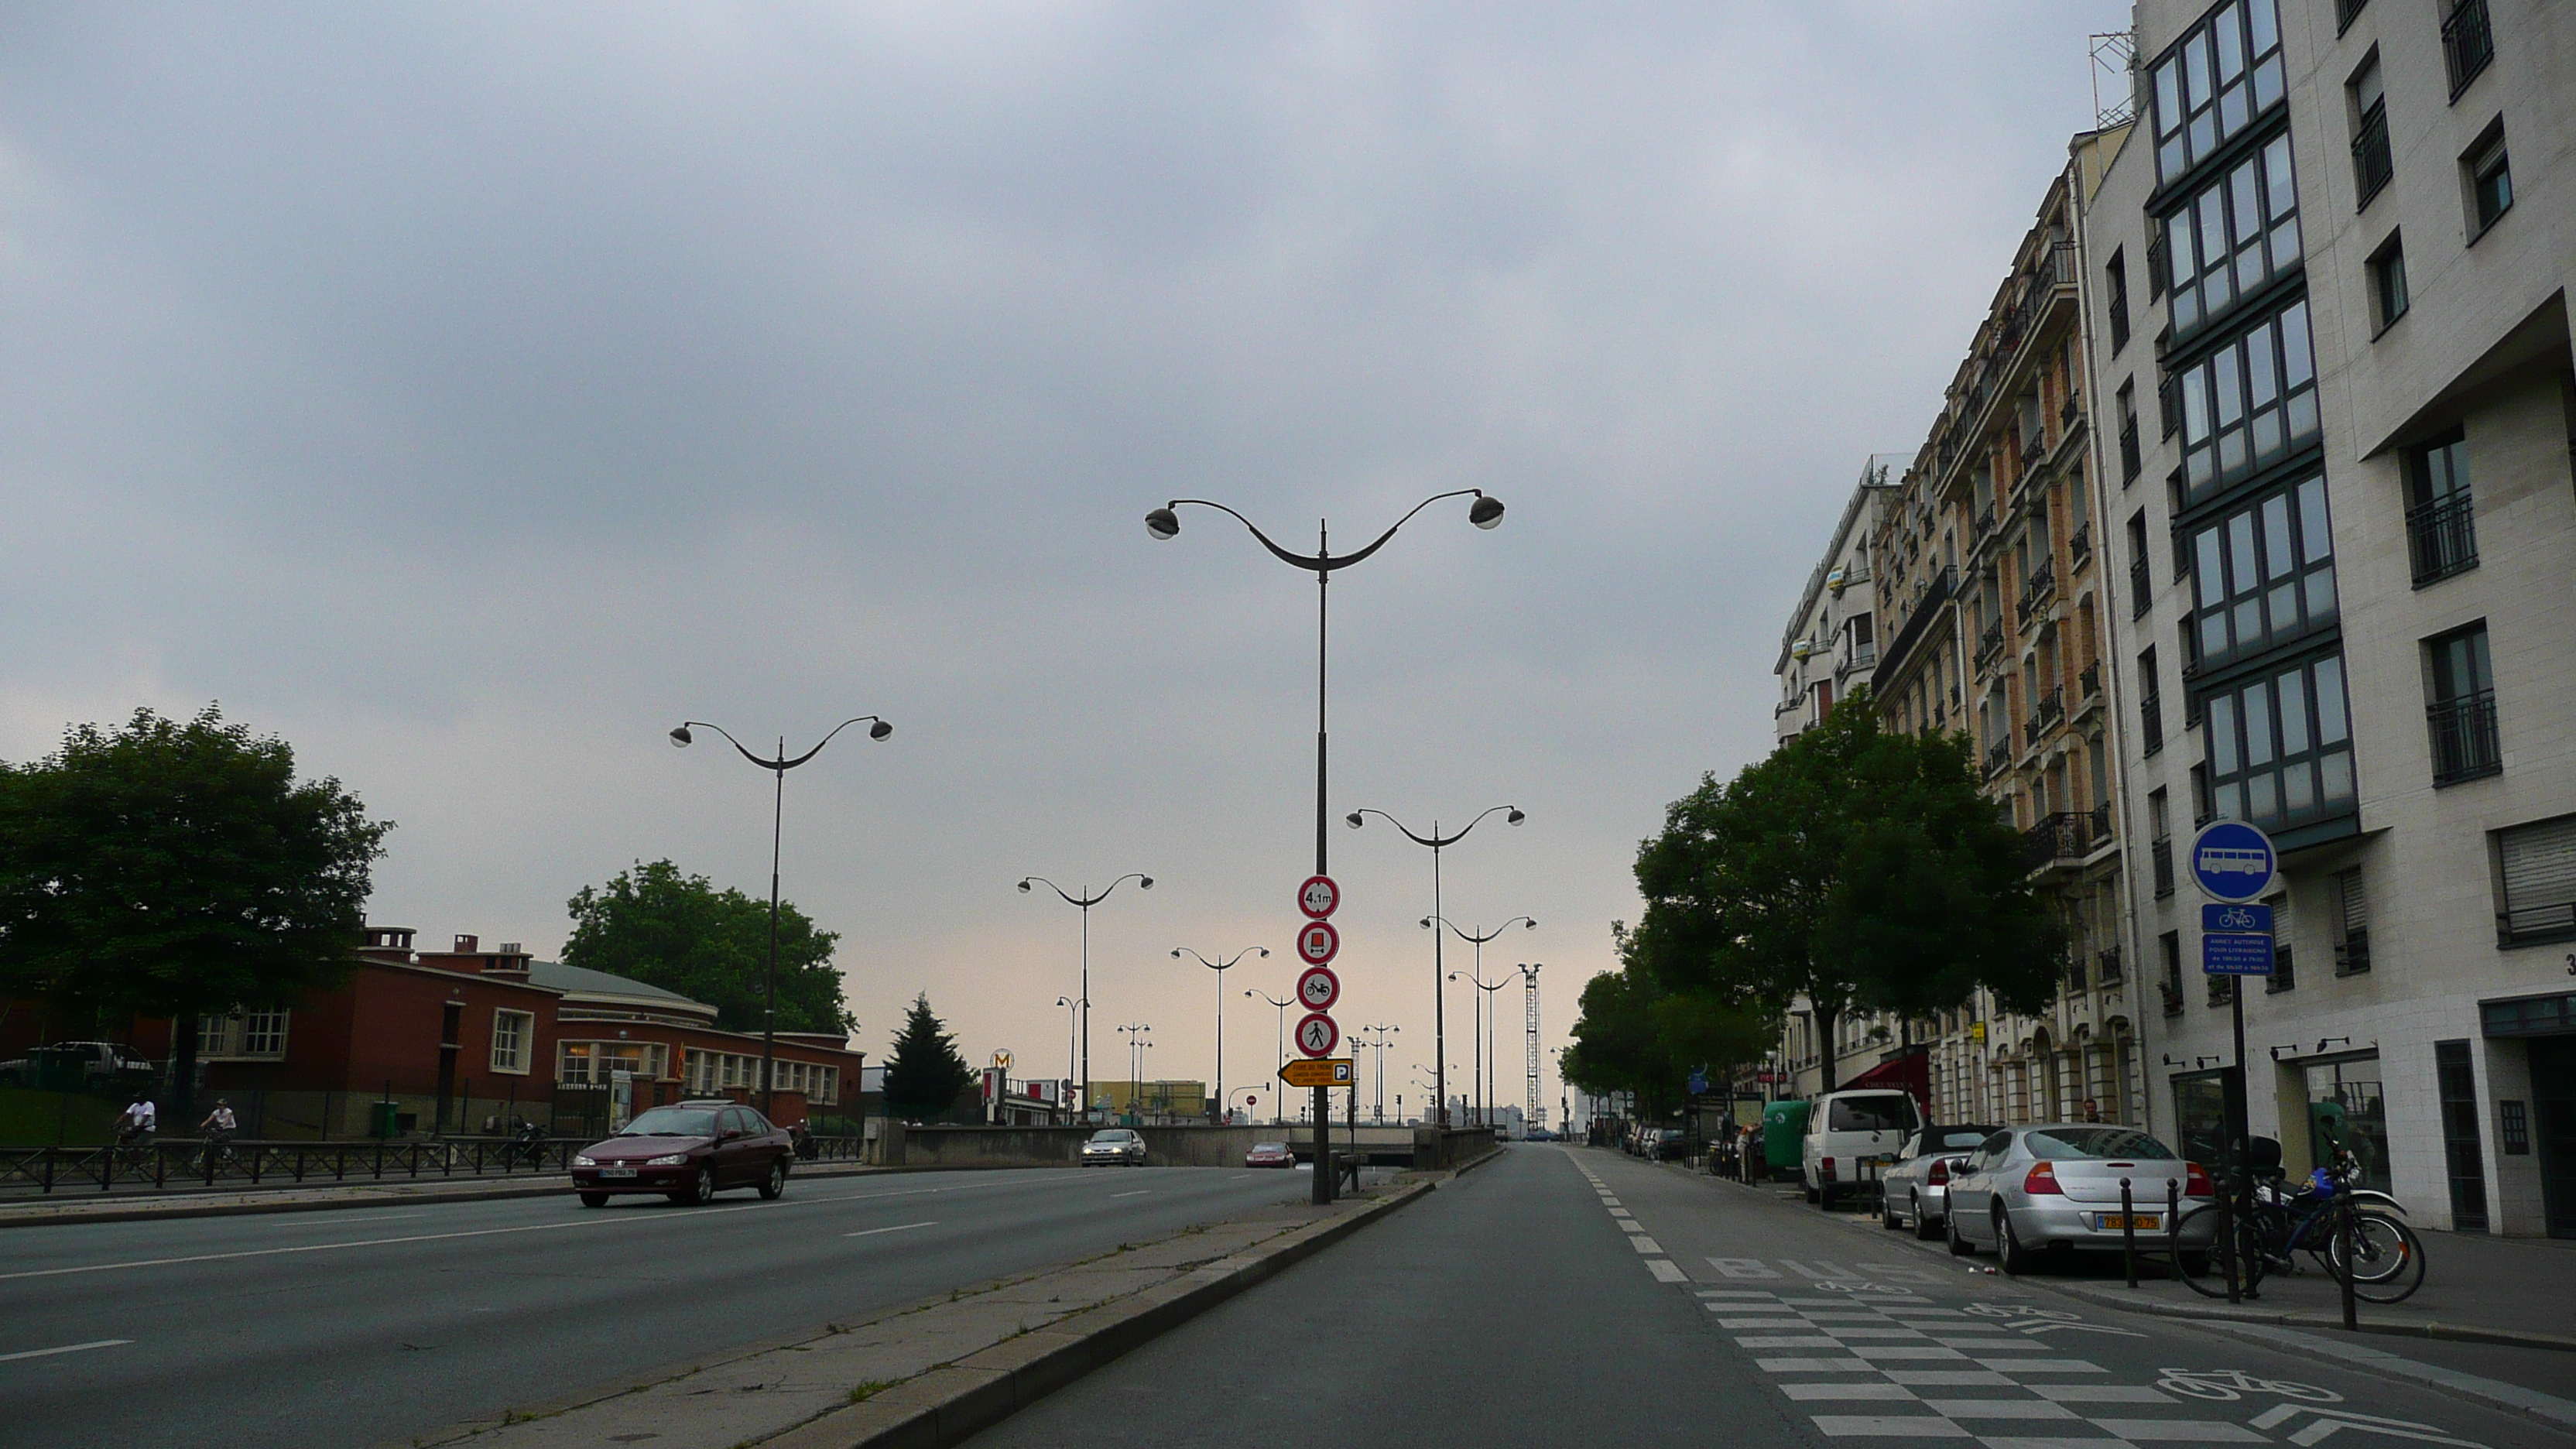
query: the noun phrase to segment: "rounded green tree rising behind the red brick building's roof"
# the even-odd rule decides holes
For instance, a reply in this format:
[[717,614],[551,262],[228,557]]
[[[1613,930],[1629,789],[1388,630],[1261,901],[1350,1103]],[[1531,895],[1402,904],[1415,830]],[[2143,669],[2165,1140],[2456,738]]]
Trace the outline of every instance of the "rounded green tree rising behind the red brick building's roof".
[[[716,1008],[716,1026],[760,1031],[770,969],[770,902],[636,861],[605,887],[585,884],[567,908],[564,964],[634,977]],[[778,902],[778,1029],[850,1031],[858,1021],[832,967],[840,933],[817,931]]]

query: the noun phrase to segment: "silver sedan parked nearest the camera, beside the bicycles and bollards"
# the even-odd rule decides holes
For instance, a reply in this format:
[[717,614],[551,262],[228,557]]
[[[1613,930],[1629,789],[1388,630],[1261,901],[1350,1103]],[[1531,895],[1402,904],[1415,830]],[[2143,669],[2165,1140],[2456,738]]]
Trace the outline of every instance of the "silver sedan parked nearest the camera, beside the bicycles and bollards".
[[[2182,1212],[2210,1199],[2210,1176],[2136,1127],[2053,1122],[2007,1127],[1986,1137],[1950,1173],[1942,1230],[1950,1253],[1994,1248],[2007,1274],[2025,1274],[2050,1248],[2120,1248],[2120,1178],[2130,1181],[2130,1227],[2164,1235],[2166,1183],[2182,1189]],[[2182,1269],[2205,1271],[2218,1238],[2215,1214],[2182,1240]],[[2197,1258],[2197,1263],[2195,1263]]]

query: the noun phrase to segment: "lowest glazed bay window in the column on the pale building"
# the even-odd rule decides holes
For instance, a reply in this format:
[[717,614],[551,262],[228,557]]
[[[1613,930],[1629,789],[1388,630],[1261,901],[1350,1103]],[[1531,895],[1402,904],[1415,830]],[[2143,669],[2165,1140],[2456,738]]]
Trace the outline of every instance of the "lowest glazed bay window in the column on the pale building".
[[2202,712],[2213,817],[2282,830],[2352,812],[2342,655],[2213,694]]

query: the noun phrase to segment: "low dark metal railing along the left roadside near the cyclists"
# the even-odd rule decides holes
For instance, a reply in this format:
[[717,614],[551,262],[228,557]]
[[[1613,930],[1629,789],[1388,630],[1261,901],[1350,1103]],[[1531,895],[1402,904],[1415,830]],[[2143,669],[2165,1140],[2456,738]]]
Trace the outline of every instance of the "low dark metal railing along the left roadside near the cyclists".
[[[410,1142],[250,1142],[209,1152],[204,1140],[165,1137],[111,1147],[0,1147],[0,1196],[52,1191],[211,1189],[222,1183],[345,1183],[384,1178],[507,1178],[569,1173],[590,1140],[518,1147],[507,1137],[422,1137]],[[811,1137],[814,1160],[858,1160],[860,1137]]]

